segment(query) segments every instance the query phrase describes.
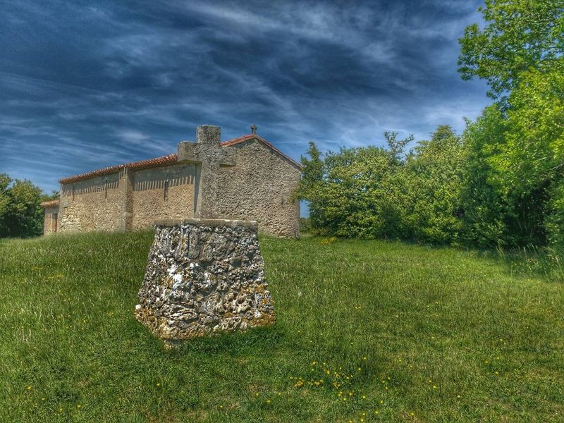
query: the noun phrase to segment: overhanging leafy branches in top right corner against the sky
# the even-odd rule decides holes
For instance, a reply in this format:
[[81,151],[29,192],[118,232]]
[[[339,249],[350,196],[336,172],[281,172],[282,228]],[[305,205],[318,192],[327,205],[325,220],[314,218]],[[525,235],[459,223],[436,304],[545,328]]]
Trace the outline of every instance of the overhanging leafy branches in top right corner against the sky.
[[459,40],[463,79],[486,79],[498,98],[525,71],[564,71],[564,0],[486,0],[478,10],[486,26],[468,26]]

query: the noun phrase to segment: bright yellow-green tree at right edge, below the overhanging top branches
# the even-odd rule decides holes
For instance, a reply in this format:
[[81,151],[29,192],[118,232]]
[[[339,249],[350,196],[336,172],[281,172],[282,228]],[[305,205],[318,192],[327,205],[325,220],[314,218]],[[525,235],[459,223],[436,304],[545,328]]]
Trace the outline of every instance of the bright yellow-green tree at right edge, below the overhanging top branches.
[[522,243],[564,245],[549,223],[560,213],[558,187],[564,183],[564,74],[524,73],[508,104],[509,130],[494,161],[514,204],[513,231]]

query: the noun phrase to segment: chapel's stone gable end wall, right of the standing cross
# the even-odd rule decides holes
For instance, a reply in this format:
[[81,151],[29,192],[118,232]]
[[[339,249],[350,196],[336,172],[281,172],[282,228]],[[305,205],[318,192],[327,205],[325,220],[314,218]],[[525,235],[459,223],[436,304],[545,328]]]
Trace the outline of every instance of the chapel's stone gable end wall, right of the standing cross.
[[237,149],[237,165],[220,171],[222,219],[256,220],[262,233],[298,237],[300,202],[291,197],[300,170],[257,140],[230,148]]

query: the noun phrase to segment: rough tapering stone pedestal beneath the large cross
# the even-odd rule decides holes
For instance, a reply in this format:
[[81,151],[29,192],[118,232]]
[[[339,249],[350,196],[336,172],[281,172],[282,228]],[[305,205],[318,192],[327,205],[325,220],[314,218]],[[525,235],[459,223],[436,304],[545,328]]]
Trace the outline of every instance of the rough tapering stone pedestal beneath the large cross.
[[159,221],[135,316],[168,345],[274,323],[257,223]]

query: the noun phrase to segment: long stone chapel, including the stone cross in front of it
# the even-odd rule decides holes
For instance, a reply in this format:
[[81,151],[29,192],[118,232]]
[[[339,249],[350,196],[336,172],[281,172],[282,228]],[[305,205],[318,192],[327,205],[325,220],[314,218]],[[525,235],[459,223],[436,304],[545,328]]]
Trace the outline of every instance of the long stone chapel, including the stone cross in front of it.
[[300,176],[300,164],[255,130],[221,142],[219,127],[202,125],[176,154],[59,180],[59,204],[45,204],[44,233],[128,231],[196,217],[258,221],[263,233],[295,237]]

